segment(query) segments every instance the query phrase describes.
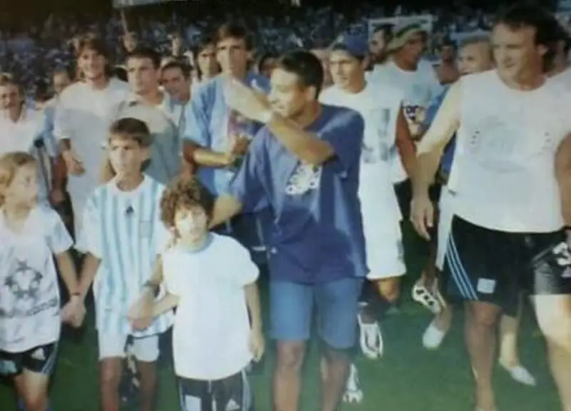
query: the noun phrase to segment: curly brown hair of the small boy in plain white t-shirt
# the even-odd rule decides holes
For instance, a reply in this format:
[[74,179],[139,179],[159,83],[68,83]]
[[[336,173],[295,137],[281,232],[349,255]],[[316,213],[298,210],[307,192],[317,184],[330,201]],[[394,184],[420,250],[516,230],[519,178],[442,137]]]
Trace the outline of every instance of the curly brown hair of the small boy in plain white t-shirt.
[[173,228],[175,226],[175,215],[178,210],[195,207],[202,208],[208,220],[210,220],[214,209],[214,196],[197,178],[178,176],[163,192],[161,198],[161,220],[167,228]]

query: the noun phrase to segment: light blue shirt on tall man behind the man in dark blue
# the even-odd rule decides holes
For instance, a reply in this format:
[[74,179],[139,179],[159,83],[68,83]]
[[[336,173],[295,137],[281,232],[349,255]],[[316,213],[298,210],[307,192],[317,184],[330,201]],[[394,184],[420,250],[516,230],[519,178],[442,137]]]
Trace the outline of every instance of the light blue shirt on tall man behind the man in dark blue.
[[[268,79],[248,73],[246,85],[268,92]],[[226,106],[223,91],[224,78],[216,76],[196,88],[195,94],[185,108],[183,138],[212,151],[224,152],[228,148],[228,123],[230,110]],[[255,136],[261,125],[253,122],[241,124],[242,131]],[[224,168],[200,167],[198,180],[216,196],[225,193],[234,174]]]

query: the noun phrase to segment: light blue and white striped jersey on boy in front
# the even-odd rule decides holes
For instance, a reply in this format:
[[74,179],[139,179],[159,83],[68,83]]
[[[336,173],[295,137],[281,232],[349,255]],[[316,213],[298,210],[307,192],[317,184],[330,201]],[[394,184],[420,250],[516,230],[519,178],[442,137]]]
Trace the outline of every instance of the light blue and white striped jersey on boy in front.
[[96,328],[102,333],[143,337],[163,333],[173,322],[168,313],[146,330],[135,331],[127,320],[167,238],[160,220],[163,191],[164,186],[148,176],[127,192],[113,179],[98,186],[86,203],[77,248],[101,260],[94,297]]

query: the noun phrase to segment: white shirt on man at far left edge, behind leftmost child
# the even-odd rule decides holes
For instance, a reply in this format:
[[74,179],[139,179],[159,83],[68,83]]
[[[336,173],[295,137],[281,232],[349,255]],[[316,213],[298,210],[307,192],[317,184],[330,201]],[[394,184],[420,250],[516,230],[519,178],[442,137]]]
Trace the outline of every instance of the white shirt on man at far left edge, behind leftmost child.
[[51,182],[50,159],[47,151],[44,150],[44,155],[40,156],[40,151],[34,146],[35,141],[44,138],[44,116],[41,111],[31,108],[24,107],[22,110],[19,120],[15,122],[0,114],[0,156],[15,151],[34,156],[38,161],[38,196],[40,200],[46,200]]

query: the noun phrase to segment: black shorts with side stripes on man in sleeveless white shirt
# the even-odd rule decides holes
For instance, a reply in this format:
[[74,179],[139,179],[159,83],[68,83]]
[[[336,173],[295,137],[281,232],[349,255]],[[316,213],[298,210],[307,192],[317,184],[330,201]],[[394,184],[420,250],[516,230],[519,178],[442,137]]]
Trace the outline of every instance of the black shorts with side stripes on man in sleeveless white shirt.
[[450,300],[485,301],[517,313],[522,291],[571,294],[571,253],[565,230],[506,233],[454,216],[444,260]]

